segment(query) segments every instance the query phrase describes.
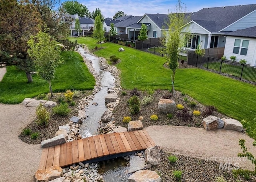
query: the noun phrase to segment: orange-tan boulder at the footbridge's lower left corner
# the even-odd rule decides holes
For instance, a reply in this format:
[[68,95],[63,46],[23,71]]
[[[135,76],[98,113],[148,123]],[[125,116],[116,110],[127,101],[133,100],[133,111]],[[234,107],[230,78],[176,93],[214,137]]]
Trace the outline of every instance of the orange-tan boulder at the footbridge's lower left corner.
[[49,182],[62,176],[62,168],[59,166],[52,166],[47,169],[40,169],[35,172],[35,178],[38,182]]

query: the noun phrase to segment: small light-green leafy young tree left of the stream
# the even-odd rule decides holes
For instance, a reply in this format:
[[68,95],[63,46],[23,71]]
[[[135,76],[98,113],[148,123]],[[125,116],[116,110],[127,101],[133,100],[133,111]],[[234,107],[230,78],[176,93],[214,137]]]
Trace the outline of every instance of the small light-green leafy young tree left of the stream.
[[55,68],[62,63],[60,51],[56,49],[57,42],[48,33],[39,31],[35,37],[31,36],[28,45],[28,55],[34,60],[38,74],[49,82],[53,96],[51,80],[55,78]]

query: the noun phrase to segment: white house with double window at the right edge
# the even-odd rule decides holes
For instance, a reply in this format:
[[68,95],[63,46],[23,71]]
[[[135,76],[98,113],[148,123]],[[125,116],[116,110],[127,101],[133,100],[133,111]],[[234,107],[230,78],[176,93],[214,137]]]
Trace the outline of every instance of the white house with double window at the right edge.
[[236,61],[245,59],[256,67],[256,26],[226,33],[224,56],[236,56]]

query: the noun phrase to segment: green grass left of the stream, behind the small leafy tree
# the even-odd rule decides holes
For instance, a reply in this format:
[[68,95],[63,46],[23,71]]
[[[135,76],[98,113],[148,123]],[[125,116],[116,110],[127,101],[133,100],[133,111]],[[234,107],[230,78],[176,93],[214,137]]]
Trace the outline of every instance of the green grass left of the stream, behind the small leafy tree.
[[[56,68],[55,79],[52,80],[53,92],[67,89],[91,90],[95,80],[83,62],[82,57],[74,51],[61,53],[64,64]],[[33,74],[33,83],[28,83],[24,71],[14,66],[7,67],[7,72],[0,82],[0,103],[18,104],[24,98],[32,98],[49,92],[49,84],[38,74]]]

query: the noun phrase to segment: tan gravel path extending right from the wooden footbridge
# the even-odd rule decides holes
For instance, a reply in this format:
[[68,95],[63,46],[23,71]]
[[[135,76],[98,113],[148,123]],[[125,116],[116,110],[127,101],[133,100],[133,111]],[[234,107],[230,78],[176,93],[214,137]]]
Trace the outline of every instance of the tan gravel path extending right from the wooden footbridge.
[[206,131],[202,128],[182,126],[150,126],[146,131],[156,145],[160,145],[167,153],[174,153],[217,162],[238,162],[242,168],[254,170],[248,160],[240,161],[237,154],[242,152],[239,139],[246,140],[249,152],[256,156],[252,138],[244,133],[232,130]]

